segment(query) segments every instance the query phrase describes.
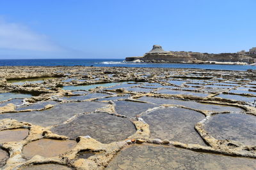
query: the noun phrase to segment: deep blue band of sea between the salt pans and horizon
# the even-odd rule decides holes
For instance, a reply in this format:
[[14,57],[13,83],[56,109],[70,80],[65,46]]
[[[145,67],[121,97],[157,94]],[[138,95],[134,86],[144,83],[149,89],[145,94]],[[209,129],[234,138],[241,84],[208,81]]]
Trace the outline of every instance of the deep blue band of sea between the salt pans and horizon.
[[98,66],[98,67],[170,67],[246,71],[256,69],[250,65],[219,64],[154,64],[124,62],[123,59],[4,59],[0,66]]

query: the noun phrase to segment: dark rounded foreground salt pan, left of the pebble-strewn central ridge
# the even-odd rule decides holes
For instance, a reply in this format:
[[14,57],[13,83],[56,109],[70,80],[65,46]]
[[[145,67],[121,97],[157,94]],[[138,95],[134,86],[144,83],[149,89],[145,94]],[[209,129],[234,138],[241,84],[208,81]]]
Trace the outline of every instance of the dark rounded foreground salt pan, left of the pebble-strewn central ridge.
[[54,127],[51,131],[72,139],[89,135],[101,143],[111,143],[124,140],[134,134],[136,129],[127,118],[108,113],[90,113],[81,115],[68,124]]

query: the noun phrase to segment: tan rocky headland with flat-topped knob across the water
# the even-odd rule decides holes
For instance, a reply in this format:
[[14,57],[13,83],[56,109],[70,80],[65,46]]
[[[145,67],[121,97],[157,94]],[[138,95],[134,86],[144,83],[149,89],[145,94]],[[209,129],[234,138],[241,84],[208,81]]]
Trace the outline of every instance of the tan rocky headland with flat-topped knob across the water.
[[164,51],[162,46],[160,45],[154,45],[152,50],[145,53],[143,57],[126,57],[125,60],[140,60],[143,62],[186,62],[204,64],[215,64],[214,62],[244,62],[244,64],[252,64],[256,62],[256,58],[253,58],[252,55],[249,56],[242,53],[200,53],[184,51],[173,52]]

